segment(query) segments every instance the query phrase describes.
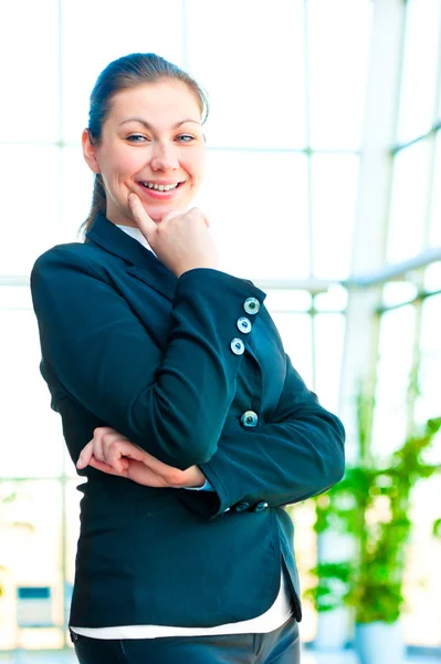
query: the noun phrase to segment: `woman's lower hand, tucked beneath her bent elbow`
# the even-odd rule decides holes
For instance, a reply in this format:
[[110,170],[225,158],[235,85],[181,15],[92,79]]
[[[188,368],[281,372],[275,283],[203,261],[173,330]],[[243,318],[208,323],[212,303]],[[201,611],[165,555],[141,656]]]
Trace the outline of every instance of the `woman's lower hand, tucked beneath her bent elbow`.
[[148,487],[179,489],[202,486],[206,481],[198,466],[187,470],[168,466],[108,426],[97,427],[82,449],[76,467],[86,466]]

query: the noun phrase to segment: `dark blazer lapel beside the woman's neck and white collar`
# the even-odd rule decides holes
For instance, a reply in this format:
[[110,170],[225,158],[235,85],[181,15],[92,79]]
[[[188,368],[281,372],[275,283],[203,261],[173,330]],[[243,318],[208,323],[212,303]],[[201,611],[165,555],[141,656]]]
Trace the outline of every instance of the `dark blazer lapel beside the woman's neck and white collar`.
[[97,215],[92,228],[86,232],[87,241],[98,245],[105,251],[118,256],[128,264],[127,272],[144,281],[156,291],[172,300],[177,277],[133,237],[120,230],[104,215]]

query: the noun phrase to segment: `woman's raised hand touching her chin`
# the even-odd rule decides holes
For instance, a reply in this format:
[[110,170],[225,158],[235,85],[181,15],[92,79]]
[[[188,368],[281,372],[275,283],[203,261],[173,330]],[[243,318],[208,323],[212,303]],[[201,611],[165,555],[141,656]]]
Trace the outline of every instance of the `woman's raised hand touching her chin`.
[[171,210],[155,224],[136,194],[129,194],[128,205],[156,256],[178,278],[193,268],[218,269],[218,252],[208,230],[210,224],[199,208],[187,212]]

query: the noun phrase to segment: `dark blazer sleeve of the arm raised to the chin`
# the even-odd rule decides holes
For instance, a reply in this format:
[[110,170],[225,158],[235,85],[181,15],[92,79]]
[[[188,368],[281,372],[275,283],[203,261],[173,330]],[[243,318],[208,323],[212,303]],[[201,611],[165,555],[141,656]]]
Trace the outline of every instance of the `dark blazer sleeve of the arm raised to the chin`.
[[[219,270],[185,272],[164,350],[104,268],[69,247],[44,253],[31,274],[43,369],[99,421],[161,461],[180,469],[208,461],[235,393],[242,355],[232,340],[246,342],[237,320],[248,298],[262,303],[265,293]],[[148,308],[157,315],[147,291],[149,314]]]

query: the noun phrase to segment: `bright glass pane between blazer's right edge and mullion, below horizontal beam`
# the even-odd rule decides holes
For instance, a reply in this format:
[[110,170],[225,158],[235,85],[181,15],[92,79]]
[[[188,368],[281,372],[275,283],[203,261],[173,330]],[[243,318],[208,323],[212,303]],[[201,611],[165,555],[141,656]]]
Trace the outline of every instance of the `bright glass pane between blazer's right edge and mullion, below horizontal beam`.
[[281,334],[291,362],[309,390],[314,388],[313,331],[311,317],[295,313],[274,313],[273,320]]

